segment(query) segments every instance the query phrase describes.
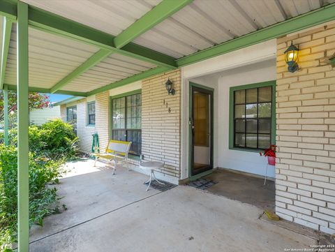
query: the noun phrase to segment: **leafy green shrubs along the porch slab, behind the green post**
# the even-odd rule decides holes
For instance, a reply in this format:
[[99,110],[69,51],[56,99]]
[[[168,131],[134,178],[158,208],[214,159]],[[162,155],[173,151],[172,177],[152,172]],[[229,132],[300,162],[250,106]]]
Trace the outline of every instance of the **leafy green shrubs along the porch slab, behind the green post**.
[[[17,129],[9,133],[9,146],[0,144],[0,251],[11,251],[17,237]],[[63,170],[75,156],[77,137],[73,127],[60,119],[42,126],[29,126],[29,225],[43,225],[43,218],[59,214],[55,205]]]

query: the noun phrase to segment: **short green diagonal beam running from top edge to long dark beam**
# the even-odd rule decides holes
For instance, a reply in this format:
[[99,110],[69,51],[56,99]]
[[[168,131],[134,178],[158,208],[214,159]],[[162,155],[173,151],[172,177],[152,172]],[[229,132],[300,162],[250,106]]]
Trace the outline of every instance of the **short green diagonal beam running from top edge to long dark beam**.
[[144,34],[156,24],[159,24],[166,18],[176,13],[181,8],[184,8],[188,3],[193,0],[163,0],[157,6],[152,8],[149,12],[145,13],[140,19],[131,24],[128,28],[124,29],[121,34],[114,38],[114,46],[121,48],[124,45],[131,43],[135,38]]

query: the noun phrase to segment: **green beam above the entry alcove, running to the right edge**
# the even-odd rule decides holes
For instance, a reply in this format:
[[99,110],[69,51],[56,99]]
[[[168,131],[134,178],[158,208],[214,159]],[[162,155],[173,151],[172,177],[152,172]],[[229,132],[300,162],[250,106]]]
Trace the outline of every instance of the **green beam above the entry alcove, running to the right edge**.
[[177,66],[181,67],[194,64],[196,62],[203,61],[204,59],[209,59],[227,52],[239,50],[250,45],[255,45],[272,38],[278,38],[280,36],[284,36],[286,34],[300,31],[302,29],[313,27],[315,25],[332,20],[335,20],[335,3],[319,8],[318,10],[313,10],[309,13],[299,15],[297,17],[292,17],[289,20],[271,25],[270,27],[266,27],[258,31],[254,31],[239,38],[234,38],[220,45],[216,45],[200,52],[195,52],[194,54],[183,57],[181,59],[177,59]]

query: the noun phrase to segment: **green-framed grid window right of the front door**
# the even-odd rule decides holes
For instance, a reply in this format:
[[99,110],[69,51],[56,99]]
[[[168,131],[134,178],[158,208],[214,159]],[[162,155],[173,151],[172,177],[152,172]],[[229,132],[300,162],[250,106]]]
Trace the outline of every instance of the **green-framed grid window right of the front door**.
[[[271,82],[274,83],[274,82]],[[266,149],[274,144],[274,84],[269,82],[230,89],[232,140],[230,147]]]

